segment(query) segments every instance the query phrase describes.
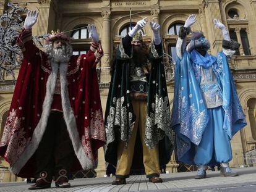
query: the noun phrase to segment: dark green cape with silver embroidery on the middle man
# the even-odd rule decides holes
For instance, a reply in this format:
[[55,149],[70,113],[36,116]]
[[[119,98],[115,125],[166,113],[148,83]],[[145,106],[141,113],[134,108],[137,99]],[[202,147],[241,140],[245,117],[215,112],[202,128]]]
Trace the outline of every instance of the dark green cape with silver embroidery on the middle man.
[[[120,140],[129,142],[135,123],[135,115],[129,98],[130,63],[132,54],[124,52],[122,42],[117,49],[113,63],[113,74],[109,88],[105,113],[105,160],[116,165],[117,145]],[[145,144],[154,148],[159,143],[160,165],[167,164],[173,151],[173,134],[171,130],[168,92],[163,66],[163,51],[160,54],[152,44],[150,49],[150,77],[147,97],[147,120]],[[146,114],[145,114],[146,115]]]

